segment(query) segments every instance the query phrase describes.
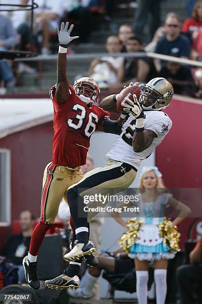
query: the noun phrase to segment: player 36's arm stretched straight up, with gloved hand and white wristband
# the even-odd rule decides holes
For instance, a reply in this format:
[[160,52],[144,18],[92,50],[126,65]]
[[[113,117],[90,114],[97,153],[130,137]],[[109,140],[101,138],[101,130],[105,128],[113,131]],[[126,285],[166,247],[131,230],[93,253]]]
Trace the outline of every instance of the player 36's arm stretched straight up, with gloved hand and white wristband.
[[69,22],[64,22],[61,24],[60,31],[58,27],[56,28],[58,39],[59,39],[59,51],[57,57],[57,84],[55,97],[58,102],[64,102],[69,97],[69,81],[66,75],[67,66],[67,46],[68,44],[79,36],[70,37],[71,31],[74,27],[72,24],[68,29]]

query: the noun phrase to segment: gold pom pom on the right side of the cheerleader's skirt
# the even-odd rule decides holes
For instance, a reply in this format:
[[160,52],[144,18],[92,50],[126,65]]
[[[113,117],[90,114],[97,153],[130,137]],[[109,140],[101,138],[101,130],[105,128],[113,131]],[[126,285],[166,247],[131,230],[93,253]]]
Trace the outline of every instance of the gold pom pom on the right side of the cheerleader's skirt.
[[178,231],[177,226],[173,226],[172,222],[166,218],[158,225],[159,235],[163,237],[163,245],[170,247],[172,253],[180,251],[179,241],[181,233]]

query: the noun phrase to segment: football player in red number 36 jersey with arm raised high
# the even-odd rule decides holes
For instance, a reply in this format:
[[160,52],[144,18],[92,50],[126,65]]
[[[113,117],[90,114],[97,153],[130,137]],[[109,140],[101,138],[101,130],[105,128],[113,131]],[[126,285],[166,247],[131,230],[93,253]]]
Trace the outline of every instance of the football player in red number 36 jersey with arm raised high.
[[[60,31],[57,28],[59,37],[57,83],[50,88],[54,109],[52,161],[44,172],[40,222],[32,233],[28,256],[23,259],[26,281],[34,289],[40,288],[37,275],[39,248],[46,232],[54,223],[59,203],[67,188],[83,177],[80,166],[86,163],[91,135],[96,129],[120,134],[126,117],[122,115],[117,121],[112,121],[107,111],[93,104],[98,100],[100,93],[94,79],[82,77],[74,82],[73,87],[69,85],[66,76],[67,45],[78,38],[78,36],[70,37],[72,29],[73,25],[68,29],[68,22],[65,26],[64,23],[61,24]],[[89,228],[85,231],[89,231]],[[96,265],[94,256],[87,259],[89,264]],[[70,262],[68,272],[63,275],[64,279],[61,277],[61,285],[63,284],[65,288],[79,286],[79,278],[75,274],[80,265],[81,260]]]

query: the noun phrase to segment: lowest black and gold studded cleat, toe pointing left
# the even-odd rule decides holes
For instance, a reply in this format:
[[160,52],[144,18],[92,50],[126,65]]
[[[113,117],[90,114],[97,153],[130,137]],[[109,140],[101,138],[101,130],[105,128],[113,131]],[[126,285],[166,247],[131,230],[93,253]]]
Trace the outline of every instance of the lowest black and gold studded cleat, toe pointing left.
[[45,281],[45,286],[48,286],[51,289],[77,289],[79,287],[79,277],[74,276],[73,278],[68,277],[65,274],[62,274],[52,280]]

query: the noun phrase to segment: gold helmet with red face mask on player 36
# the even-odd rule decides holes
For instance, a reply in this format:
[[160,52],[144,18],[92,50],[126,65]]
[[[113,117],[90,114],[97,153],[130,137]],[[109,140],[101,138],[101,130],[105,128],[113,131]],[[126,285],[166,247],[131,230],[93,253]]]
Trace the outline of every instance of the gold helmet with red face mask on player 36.
[[98,83],[91,77],[81,77],[74,81],[73,89],[76,95],[86,104],[97,101],[100,94]]

